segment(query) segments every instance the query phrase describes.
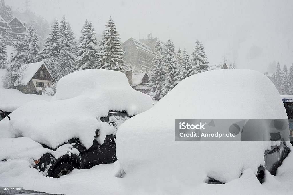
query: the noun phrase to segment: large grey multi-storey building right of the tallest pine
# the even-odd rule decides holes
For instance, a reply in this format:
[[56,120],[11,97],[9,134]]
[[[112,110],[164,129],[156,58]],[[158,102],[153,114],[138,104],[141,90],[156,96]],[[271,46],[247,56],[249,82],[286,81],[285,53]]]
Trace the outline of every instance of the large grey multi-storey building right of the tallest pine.
[[146,44],[130,38],[122,43],[125,52],[125,63],[135,66],[138,70],[149,71],[151,69],[151,60],[154,56],[153,50]]

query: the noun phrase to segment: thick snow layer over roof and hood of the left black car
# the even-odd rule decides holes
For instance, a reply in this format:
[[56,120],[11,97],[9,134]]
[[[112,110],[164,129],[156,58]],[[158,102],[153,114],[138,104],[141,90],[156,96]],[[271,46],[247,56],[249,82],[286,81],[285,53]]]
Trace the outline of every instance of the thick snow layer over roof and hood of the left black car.
[[134,90],[124,73],[82,70],[62,77],[51,102],[31,101],[0,121],[0,137],[30,137],[56,148],[78,137],[86,148],[93,144],[100,117],[108,111],[136,115],[151,108],[151,98]]

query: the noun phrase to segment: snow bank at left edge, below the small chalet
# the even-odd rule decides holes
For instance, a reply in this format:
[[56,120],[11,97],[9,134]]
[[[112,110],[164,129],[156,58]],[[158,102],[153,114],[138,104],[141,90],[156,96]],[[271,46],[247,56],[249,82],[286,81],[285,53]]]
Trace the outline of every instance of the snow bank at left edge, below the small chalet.
[[[4,89],[2,77],[6,74],[6,69],[0,68],[0,109],[12,112],[20,106],[33,100],[50,101],[52,96],[42,96],[37,94],[23,94],[17,89]],[[1,130],[1,127],[0,127]],[[0,136],[1,137],[1,136]]]

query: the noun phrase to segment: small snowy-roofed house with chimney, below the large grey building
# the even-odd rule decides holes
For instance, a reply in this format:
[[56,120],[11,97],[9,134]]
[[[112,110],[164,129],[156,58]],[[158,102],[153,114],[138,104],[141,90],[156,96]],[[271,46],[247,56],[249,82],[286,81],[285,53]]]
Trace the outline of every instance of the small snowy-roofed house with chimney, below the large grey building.
[[149,75],[147,72],[132,75],[132,70],[125,71],[128,82],[133,89],[147,93],[147,85],[149,84]]

